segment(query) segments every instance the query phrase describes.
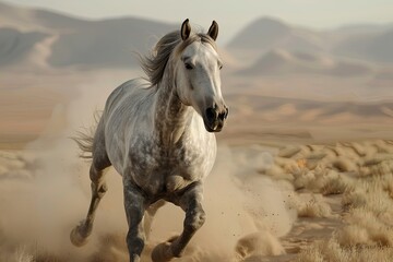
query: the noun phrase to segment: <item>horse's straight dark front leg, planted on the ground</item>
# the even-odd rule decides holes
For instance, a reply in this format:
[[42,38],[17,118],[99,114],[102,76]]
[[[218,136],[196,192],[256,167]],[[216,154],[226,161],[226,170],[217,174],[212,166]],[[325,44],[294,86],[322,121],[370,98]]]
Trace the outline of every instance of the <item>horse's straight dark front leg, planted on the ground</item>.
[[143,228],[143,215],[145,212],[145,198],[141,189],[132,182],[124,182],[124,209],[129,231],[127,234],[127,247],[130,262],[139,262],[145,242]]

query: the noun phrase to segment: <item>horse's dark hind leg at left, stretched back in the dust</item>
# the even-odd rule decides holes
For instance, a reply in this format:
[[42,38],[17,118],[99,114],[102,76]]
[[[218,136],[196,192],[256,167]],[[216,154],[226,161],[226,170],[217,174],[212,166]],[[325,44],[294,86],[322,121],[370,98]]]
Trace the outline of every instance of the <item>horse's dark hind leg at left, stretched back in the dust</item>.
[[99,158],[93,157],[93,164],[90,168],[90,178],[92,180],[92,200],[86,218],[74,227],[70,235],[71,242],[76,247],[85,245],[88,236],[92,234],[97,206],[107,191],[107,184],[104,180],[104,169],[108,166],[110,166],[110,162],[106,153]]

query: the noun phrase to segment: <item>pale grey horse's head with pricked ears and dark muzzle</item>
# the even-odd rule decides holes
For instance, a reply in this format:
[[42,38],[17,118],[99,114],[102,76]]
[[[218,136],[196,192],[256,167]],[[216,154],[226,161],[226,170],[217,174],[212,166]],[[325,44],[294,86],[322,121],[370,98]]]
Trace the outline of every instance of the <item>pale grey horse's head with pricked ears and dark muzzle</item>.
[[215,45],[218,24],[213,21],[207,34],[191,35],[191,25],[186,20],[180,35],[182,43],[177,56],[175,80],[178,96],[203,118],[209,132],[219,132],[228,116],[228,107],[221,91],[223,62]]

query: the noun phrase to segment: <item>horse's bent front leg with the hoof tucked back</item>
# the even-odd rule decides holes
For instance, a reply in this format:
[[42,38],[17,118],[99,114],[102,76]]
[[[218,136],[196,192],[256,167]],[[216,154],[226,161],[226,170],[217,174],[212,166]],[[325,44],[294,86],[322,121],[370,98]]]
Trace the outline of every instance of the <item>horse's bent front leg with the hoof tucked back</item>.
[[186,212],[183,231],[179,237],[171,238],[167,242],[159,243],[154,248],[152,252],[152,260],[154,262],[166,262],[182,255],[192,236],[205,222],[205,213],[201,204],[202,198],[202,183],[198,182],[176,201]]

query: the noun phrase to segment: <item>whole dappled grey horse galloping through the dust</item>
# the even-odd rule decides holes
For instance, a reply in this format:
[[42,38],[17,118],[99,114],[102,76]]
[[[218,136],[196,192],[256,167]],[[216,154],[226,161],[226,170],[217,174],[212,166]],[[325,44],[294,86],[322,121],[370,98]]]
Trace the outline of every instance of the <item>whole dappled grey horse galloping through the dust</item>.
[[182,255],[205,222],[203,183],[216,157],[215,132],[228,116],[221,91],[223,62],[217,53],[218,24],[206,34],[191,33],[187,19],[153,51],[140,56],[146,79],[130,80],[106,100],[94,135],[76,142],[92,158],[92,199],[87,215],[70,234],[86,243],[99,201],[107,191],[104,169],[122,176],[130,261],[140,261],[150,226],[166,202],[186,212],[180,236],[157,245],[154,262]]

